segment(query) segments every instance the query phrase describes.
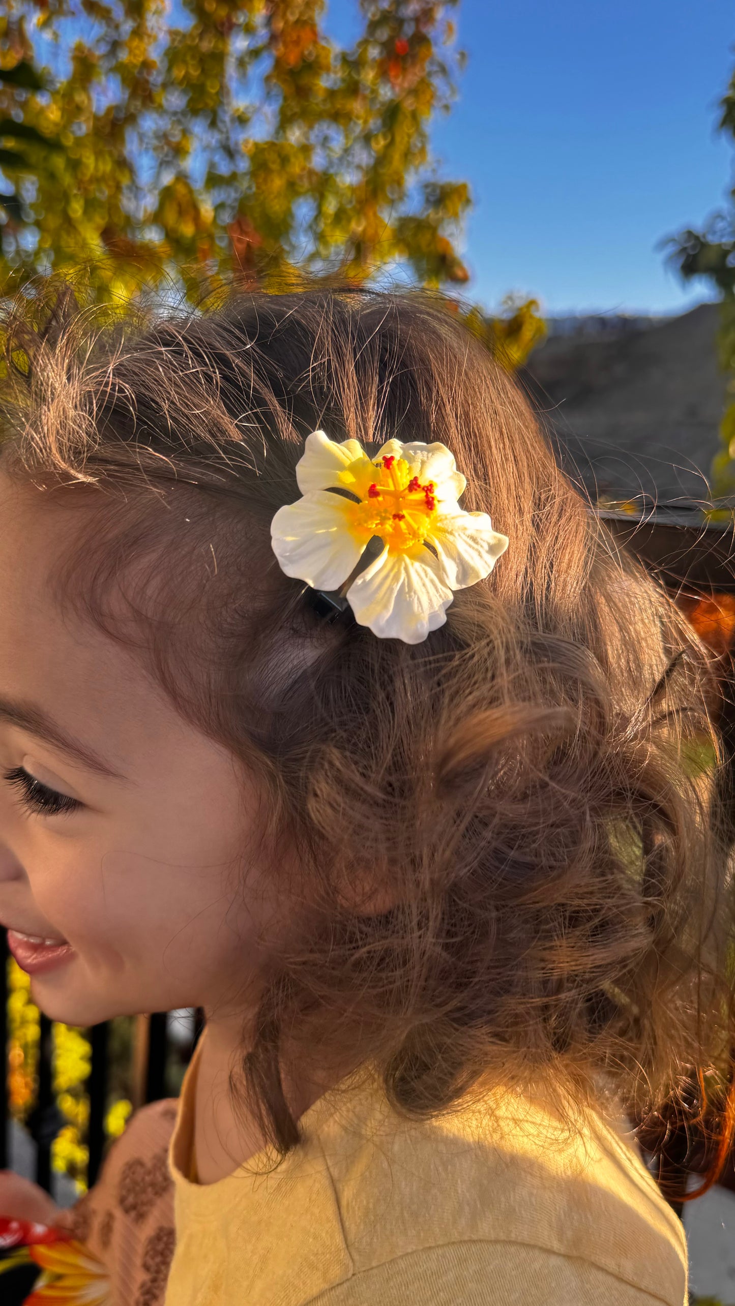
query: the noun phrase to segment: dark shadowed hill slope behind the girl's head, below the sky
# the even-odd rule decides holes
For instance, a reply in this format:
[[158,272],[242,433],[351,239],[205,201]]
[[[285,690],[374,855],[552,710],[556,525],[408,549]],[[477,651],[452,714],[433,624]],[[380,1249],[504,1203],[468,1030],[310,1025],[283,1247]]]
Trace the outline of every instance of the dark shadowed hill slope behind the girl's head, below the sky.
[[592,494],[706,499],[725,380],[717,307],[603,338],[552,337],[521,380]]

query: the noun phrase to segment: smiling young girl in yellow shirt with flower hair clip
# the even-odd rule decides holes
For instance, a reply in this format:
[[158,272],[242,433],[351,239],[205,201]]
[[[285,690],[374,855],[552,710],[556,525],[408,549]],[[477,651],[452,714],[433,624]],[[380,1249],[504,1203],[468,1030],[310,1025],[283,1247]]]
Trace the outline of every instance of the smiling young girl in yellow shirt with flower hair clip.
[[73,1215],[94,1299],[683,1306],[625,1113],[730,995],[663,590],[428,299],[8,359],[0,921],[54,1020],[207,1012]]

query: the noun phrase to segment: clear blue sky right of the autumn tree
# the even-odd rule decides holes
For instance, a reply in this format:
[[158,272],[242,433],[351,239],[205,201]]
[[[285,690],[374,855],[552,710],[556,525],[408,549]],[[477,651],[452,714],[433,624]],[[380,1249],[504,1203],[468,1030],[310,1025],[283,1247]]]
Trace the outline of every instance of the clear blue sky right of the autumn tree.
[[[331,0],[337,38],[356,9]],[[705,298],[657,243],[701,225],[732,174],[714,133],[732,0],[460,0],[458,20],[468,64],[434,148],[472,188],[470,295],[534,294],[552,313]]]

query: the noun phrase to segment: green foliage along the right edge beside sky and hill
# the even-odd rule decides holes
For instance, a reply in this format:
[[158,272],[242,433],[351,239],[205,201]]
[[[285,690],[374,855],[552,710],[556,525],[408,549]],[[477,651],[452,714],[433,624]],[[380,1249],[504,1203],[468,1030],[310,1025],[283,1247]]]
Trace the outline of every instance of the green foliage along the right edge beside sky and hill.
[[[719,103],[718,128],[735,141],[735,72]],[[680,231],[668,242],[670,257],[685,281],[704,277],[721,296],[718,354],[730,375],[727,404],[719,427],[722,448],[711,465],[715,498],[735,494],[735,185],[726,212],[715,213],[702,231]],[[718,516],[730,516],[719,512]]]

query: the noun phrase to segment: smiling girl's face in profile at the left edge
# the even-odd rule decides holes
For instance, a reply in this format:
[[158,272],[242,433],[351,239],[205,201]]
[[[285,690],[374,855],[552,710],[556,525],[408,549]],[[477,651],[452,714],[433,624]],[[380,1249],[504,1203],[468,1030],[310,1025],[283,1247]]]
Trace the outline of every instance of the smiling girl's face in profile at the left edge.
[[276,927],[246,854],[255,788],[64,618],[50,573],[75,515],[39,499],[0,477],[0,923],[55,1020],[242,1010]]

